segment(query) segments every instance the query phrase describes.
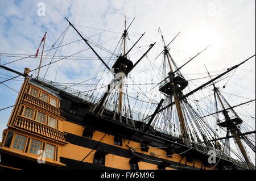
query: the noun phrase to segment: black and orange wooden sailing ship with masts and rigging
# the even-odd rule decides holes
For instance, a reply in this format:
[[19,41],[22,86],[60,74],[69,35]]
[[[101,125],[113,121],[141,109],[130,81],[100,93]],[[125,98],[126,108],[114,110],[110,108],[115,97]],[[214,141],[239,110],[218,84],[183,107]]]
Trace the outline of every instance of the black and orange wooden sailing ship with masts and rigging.
[[[211,79],[208,82],[183,94],[188,81],[180,69],[185,64],[176,66],[168,48],[170,43],[166,45],[161,32],[164,49],[159,55],[163,54],[164,64],[168,65],[168,75],[157,86],[164,99],[154,104],[155,109],[150,115],[143,115],[131,110],[123,79],[132,73],[134,67],[155,43],[148,47],[138,61],[129,60],[127,54],[144,34],[127,50],[127,30],[130,26],[126,27],[125,22],[122,54],[119,54],[110,68],[75,26],[70,22],[69,25],[93,50],[106,69],[111,71],[114,78],[104,94],[97,98],[92,94],[40,78],[39,72],[38,76],[33,78],[28,75],[28,68],[24,73],[19,73],[1,65],[1,68],[24,77],[7,129],[3,131],[0,142],[1,169],[255,169],[242,143],[243,141],[249,145],[255,153],[255,140],[252,142],[246,137],[247,134],[255,134],[255,131],[240,131],[242,119],[214,84],[214,81],[238,68],[251,57],[214,78],[209,74]],[[209,115],[200,116],[187,98],[208,85],[213,86],[216,105],[219,102],[222,106],[222,110],[217,113],[223,113],[225,119],[218,120],[217,125],[226,129],[226,137],[218,136],[210,128],[207,128],[207,133],[202,132],[200,127],[203,125],[193,127],[193,124],[204,123],[203,120]],[[115,102],[113,92],[116,92]],[[129,105],[125,105],[123,100]],[[225,107],[224,102],[229,106]],[[188,110],[190,116],[186,113]],[[230,117],[228,110],[235,116]],[[166,130],[159,128],[161,121],[174,119],[168,116],[172,112],[177,115],[179,124],[179,128],[176,128],[179,132],[177,135],[168,132],[172,127]],[[195,122],[189,124],[189,121]],[[231,148],[227,142],[230,138],[236,140],[243,156],[242,161],[230,156]],[[216,152],[216,162],[209,162],[210,150]]]

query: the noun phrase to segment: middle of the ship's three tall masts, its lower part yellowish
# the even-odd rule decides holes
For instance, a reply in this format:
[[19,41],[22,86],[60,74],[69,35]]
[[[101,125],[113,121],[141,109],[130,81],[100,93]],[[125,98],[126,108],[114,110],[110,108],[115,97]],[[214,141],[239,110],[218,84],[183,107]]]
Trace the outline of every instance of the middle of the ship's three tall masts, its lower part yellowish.
[[[159,28],[160,30],[160,28]],[[180,105],[180,99],[179,96],[177,95],[177,84],[174,83],[174,70],[172,69],[171,66],[171,62],[170,62],[170,58],[168,56],[168,49],[166,47],[166,43],[164,41],[163,35],[162,35],[162,31],[160,30],[161,36],[162,36],[162,40],[163,40],[163,44],[164,44],[164,57],[167,57],[168,60],[168,64],[170,67],[170,80],[171,80],[171,89],[173,91],[173,96],[174,96],[174,102],[175,102],[175,106],[176,106],[176,110],[177,110],[177,114],[179,116],[179,121],[180,121],[180,127],[181,127],[181,133],[183,134],[183,137],[185,138],[186,141],[188,141],[188,133],[187,133],[187,128],[185,126],[185,120],[184,120],[184,116],[183,116],[183,112],[181,109],[181,105]]]

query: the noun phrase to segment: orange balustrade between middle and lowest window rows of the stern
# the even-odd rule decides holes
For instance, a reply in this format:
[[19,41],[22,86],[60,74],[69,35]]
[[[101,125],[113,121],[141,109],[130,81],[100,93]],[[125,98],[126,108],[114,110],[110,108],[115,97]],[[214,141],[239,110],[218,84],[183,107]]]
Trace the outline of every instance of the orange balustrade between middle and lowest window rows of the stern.
[[65,133],[24,117],[17,116],[14,126],[40,134],[40,136],[52,138],[53,140],[63,142],[64,144],[67,143],[64,138]]

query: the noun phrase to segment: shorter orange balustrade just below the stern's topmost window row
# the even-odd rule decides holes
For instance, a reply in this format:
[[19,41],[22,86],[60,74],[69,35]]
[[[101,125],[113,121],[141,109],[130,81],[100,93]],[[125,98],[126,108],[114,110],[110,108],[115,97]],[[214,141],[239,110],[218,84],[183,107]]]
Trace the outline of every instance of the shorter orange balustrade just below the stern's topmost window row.
[[35,104],[36,106],[39,106],[41,108],[43,108],[44,110],[53,112],[57,115],[60,115],[60,109],[57,107],[52,106],[51,104],[48,104],[46,102],[44,102],[43,100],[40,100],[38,98],[35,98],[34,96],[30,95],[30,94],[25,94],[24,95],[24,101],[29,102],[31,104]]

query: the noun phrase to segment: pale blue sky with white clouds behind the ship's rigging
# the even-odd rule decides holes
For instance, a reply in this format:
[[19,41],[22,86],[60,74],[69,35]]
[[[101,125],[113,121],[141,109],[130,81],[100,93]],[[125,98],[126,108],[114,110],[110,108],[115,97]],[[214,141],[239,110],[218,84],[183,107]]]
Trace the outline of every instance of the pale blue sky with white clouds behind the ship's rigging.
[[[210,45],[207,50],[182,69],[183,73],[191,79],[207,76],[205,66],[210,72],[224,70],[255,54],[254,0],[3,0],[0,1],[1,64],[19,59],[18,57],[7,57],[5,53],[35,54],[46,31],[45,49],[50,49],[65,28],[68,27],[64,17],[67,17],[83,33],[82,35],[89,37],[91,42],[101,44],[105,50],[98,47],[95,49],[100,56],[108,58],[112,55],[106,49],[114,52],[117,42],[122,36],[125,16],[127,25],[135,17],[129,28],[128,47],[131,47],[142,33],[146,32],[137,47],[131,51],[130,60],[133,62],[138,60],[146,52],[148,45],[156,42],[154,48],[147,54],[147,58],[144,58],[134,69],[134,74],[131,76],[136,82],[150,83],[152,80],[157,82],[164,77],[162,74],[159,76],[158,72],[162,58],[159,57],[155,60],[163,49],[159,27],[166,43],[169,43],[180,32],[170,46],[172,57],[179,66]],[[80,37],[72,27],[69,27],[62,44],[76,40],[80,40]],[[56,56],[68,56],[87,48],[88,46],[83,41],[77,41],[77,43],[58,49]],[[50,54],[54,53],[52,50]],[[89,49],[75,56],[95,57]],[[108,61],[107,58],[104,59],[106,62]],[[48,64],[49,61],[44,61],[43,65]],[[113,62],[110,61],[109,65],[111,64]],[[39,58],[32,57],[6,66],[23,72],[24,68],[32,70],[38,65]],[[97,71],[101,70],[101,65],[102,63],[97,58],[94,60],[59,61],[51,65],[47,71],[46,79],[55,82],[82,82],[93,78]],[[147,71],[148,69],[150,71]],[[40,77],[44,77],[46,70],[47,68],[40,70]],[[9,76],[15,75],[3,69],[0,69],[0,73],[0,81],[5,81]],[[36,71],[33,72],[34,76],[36,73]],[[8,81],[4,85],[0,85],[0,110],[15,104],[17,91],[22,85],[22,80],[22,78],[18,78],[16,81]],[[208,79],[198,80],[192,87],[199,86],[206,81]],[[103,83],[109,82],[104,79]],[[222,91],[227,92],[224,95],[232,105],[255,99],[255,57],[238,68],[233,75],[229,74],[229,77],[224,81],[218,82],[217,86],[222,87],[224,85],[226,87]],[[84,87],[76,87],[75,89],[85,90]],[[150,89],[151,87],[142,87],[142,90],[147,93]],[[137,89],[137,91],[139,90]],[[209,92],[210,90],[204,94],[208,95]],[[133,95],[138,94],[136,91],[131,93]],[[159,102],[160,93],[152,95],[157,95],[155,101]],[[0,140],[2,140],[3,129],[7,128],[6,124],[11,111],[12,108],[0,111]],[[255,102],[237,108],[237,111],[242,113],[242,118],[247,120],[255,130]],[[247,117],[243,117],[243,115]]]

